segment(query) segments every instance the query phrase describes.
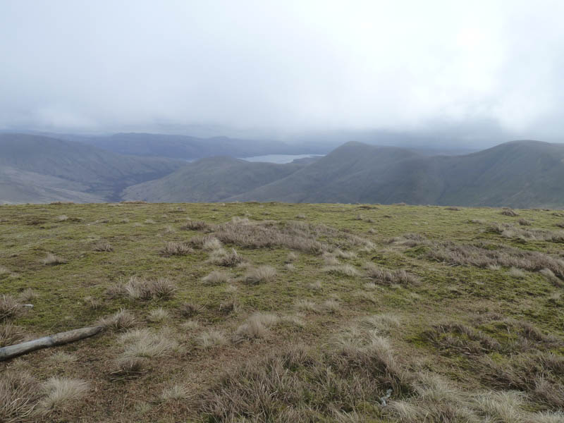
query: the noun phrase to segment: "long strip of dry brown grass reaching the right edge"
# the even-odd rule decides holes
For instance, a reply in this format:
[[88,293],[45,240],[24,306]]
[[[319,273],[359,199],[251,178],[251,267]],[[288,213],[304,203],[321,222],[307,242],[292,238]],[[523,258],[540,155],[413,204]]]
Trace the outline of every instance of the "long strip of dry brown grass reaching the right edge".
[[482,268],[501,265],[528,271],[549,269],[559,278],[564,278],[564,259],[539,251],[520,250],[484,243],[462,245],[447,241],[445,243],[434,243],[427,256],[448,264],[466,264]]

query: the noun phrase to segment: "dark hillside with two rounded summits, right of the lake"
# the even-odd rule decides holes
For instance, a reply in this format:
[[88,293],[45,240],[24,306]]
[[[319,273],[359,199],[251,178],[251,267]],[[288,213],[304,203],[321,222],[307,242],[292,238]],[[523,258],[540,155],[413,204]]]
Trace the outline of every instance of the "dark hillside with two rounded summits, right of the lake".
[[424,157],[349,142],[292,175],[229,200],[563,207],[564,145],[507,142]]

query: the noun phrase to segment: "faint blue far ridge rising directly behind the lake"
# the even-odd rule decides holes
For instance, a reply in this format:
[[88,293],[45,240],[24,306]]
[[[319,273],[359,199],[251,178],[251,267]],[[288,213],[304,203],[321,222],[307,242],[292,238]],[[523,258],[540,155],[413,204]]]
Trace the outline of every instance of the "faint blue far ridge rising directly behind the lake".
[[319,149],[312,149],[312,147],[228,137],[199,138],[188,135],[118,133],[108,137],[73,137],[73,139],[119,154],[171,157],[173,159],[319,153]]

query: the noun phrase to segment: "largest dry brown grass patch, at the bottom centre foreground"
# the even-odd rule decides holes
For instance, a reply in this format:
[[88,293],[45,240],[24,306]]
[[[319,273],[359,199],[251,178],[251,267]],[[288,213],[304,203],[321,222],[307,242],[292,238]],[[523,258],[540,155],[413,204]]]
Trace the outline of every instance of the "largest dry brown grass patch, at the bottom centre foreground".
[[324,353],[287,345],[224,374],[200,393],[197,407],[221,422],[244,415],[273,422],[347,421],[339,419],[362,404],[379,404],[388,389],[396,396],[411,391],[408,379],[385,338],[345,341]]

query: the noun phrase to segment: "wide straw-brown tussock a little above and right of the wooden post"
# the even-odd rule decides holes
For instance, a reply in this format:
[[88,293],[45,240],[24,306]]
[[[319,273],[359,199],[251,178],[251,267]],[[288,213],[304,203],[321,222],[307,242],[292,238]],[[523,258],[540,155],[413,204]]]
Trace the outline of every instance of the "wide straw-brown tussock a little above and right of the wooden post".
[[131,276],[127,282],[116,283],[106,292],[111,297],[125,297],[130,300],[168,299],[176,292],[176,284],[167,278],[146,280]]

